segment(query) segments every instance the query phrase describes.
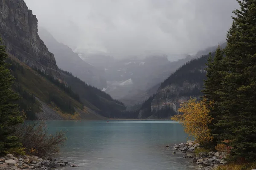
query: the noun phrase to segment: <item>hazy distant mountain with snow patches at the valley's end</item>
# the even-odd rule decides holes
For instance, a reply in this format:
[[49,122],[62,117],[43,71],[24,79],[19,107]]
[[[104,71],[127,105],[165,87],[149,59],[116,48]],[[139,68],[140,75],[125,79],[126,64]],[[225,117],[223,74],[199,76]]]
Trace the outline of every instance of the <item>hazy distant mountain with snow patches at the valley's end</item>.
[[[96,68],[105,70],[107,86],[102,91],[123,102],[132,102],[133,99],[128,96],[137,96],[137,94],[144,93],[147,89],[162,82],[179,67],[177,63],[170,62],[167,56],[150,56],[144,59],[137,57],[115,59],[100,54],[77,52],[84,61]],[[185,57],[185,59],[179,60],[180,65],[189,58]],[[131,105],[131,102],[125,104]]]

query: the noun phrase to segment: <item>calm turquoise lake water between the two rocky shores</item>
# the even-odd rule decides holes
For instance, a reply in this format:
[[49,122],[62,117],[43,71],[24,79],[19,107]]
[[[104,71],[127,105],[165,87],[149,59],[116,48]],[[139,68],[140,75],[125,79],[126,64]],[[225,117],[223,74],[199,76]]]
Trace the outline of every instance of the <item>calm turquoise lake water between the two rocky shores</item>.
[[49,132],[67,130],[61,159],[65,170],[191,170],[189,159],[170,148],[187,140],[174,121],[49,121]]

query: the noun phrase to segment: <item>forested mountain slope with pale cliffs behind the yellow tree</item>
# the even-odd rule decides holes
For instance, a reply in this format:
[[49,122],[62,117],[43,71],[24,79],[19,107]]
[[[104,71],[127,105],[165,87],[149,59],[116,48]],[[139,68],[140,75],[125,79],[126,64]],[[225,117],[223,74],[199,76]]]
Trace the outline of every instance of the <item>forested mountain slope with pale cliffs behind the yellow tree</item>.
[[[224,48],[226,43],[222,44]],[[212,55],[214,55],[214,51]],[[138,119],[163,119],[177,114],[180,104],[190,97],[199,98],[204,88],[208,55],[194,58],[166,78],[156,93],[151,94],[137,110]],[[154,87],[155,88],[155,87]]]

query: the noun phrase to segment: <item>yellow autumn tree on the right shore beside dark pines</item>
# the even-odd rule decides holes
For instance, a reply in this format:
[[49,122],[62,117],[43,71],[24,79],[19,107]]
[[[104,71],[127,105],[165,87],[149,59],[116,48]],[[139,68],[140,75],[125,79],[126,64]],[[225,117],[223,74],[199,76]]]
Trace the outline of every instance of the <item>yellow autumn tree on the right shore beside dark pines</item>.
[[179,108],[178,114],[171,119],[179,121],[185,127],[185,132],[189,136],[193,136],[195,140],[201,144],[207,143],[212,140],[212,135],[208,128],[209,123],[212,122],[212,117],[209,116],[212,102],[207,104],[207,100],[204,98],[201,101],[197,101],[195,98],[189,99]]

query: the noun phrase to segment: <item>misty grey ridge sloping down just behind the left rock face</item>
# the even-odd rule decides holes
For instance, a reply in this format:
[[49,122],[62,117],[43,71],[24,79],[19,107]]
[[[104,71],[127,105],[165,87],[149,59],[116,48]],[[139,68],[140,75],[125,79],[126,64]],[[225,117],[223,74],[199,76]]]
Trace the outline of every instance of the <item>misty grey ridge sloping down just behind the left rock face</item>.
[[82,60],[71,48],[57,40],[45,29],[39,28],[38,34],[47,45],[48,50],[54,54],[59,68],[69,71],[79,79],[97,88],[107,87],[107,81],[104,77],[104,70],[100,71],[93,65]]

